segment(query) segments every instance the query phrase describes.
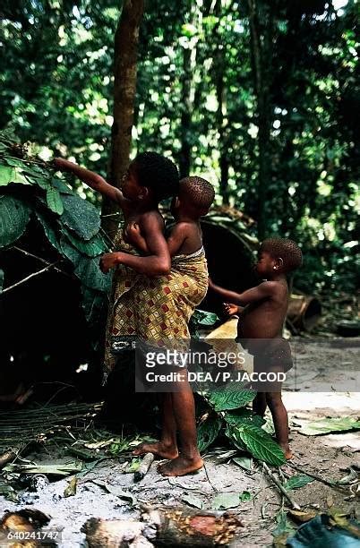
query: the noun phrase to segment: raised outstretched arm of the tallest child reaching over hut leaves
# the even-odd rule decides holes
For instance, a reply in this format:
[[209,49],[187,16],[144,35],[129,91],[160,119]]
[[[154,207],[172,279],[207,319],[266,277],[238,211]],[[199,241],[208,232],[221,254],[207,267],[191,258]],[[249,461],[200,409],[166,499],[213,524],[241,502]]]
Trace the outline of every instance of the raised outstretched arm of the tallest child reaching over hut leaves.
[[55,158],[54,164],[60,171],[73,173],[74,176],[77,176],[83,183],[88,184],[95,191],[98,191],[98,193],[107,196],[110,200],[120,203],[121,207],[126,208],[127,200],[124,198],[123,193],[116,186],[108,184],[102,176],[64,158]]

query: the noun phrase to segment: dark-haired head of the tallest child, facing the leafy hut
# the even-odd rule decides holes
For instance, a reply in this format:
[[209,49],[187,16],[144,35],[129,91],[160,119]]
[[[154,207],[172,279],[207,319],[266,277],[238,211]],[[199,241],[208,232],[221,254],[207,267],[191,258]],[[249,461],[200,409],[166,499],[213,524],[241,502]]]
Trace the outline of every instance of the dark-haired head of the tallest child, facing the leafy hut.
[[179,192],[177,167],[157,152],[141,152],[133,159],[123,177],[124,197],[138,201],[150,199],[159,203]]

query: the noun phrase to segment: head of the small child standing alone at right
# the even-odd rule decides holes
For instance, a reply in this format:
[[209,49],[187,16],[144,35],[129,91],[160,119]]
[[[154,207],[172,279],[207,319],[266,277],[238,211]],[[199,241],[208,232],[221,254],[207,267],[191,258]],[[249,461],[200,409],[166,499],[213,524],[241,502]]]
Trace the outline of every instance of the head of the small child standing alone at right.
[[256,271],[263,277],[271,274],[287,274],[298,269],[303,262],[303,254],[293,240],[287,238],[269,238],[264,240],[259,249],[259,260]]

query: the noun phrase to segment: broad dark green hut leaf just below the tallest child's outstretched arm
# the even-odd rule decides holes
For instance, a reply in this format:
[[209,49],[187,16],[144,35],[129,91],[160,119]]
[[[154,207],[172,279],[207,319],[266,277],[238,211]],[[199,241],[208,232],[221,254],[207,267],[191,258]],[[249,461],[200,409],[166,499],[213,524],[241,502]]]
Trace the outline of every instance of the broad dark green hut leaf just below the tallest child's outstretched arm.
[[64,194],[64,213],[62,221],[84,240],[90,240],[98,234],[100,228],[99,210],[80,196]]

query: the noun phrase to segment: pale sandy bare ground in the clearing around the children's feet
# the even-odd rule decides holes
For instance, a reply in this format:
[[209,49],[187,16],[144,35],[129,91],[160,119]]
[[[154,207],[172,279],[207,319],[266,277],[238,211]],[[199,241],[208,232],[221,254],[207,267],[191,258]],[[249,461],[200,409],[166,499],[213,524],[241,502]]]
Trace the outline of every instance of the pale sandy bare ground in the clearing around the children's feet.
[[[308,390],[312,390],[313,381],[325,382],[327,386],[332,383],[335,388],[341,382],[356,388],[356,369],[359,366],[357,360],[358,347],[347,348],[345,353],[342,347],[332,347],[329,342],[312,347],[311,352],[306,349],[303,358],[297,362],[297,391],[285,391],[284,401],[291,425],[291,448],[294,452],[292,462],[301,467],[304,473],[314,473],[328,480],[339,480],[347,475],[344,469],[356,463],[360,466],[359,431],[306,436],[297,432],[299,427],[296,423],[302,419],[310,422],[326,416],[360,415],[360,394],[354,390],[304,391],[307,385]],[[344,363],[346,367],[339,368],[339,364]],[[330,371],[331,378],[327,374]],[[312,374],[309,376],[309,373]],[[223,452],[228,449],[223,448]],[[39,460],[51,462],[52,458],[59,456],[61,451],[60,455],[58,451],[56,455],[47,454],[47,446],[44,446],[43,454],[29,458],[39,463]],[[282,467],[282,473],[287,477],[298,472],[285,465]],[[108,484],[113,492],[107,492],[103,485],[94,483],[99,480]],[[40,509],[51,516],[49,527],[62,530],[62,543],[59,545],[64,548],[76,548],[86,545],[81,526],[88,518],[136,516],[136,502],[132,507],[130,501],[116,496],[118,487],[131,492],[137,502],[176,505],[184,504],[184,496],[193,495],[207,509],[213,506],[214,497],[219,492],[247,491],[252,494],[252,500],[241,502],[232,510],[244,523],[244,532],[233,546],[246,548],[270,546],[271,531],[276,527],[279,509],[289,508],[288,502],[282,500],[261,464],[254,465],[251,471],[246,471],[231,459],[221,462],[219,454],[213,449],[205,456],[205,467],[191,476],[165,479],[157,472],[155,462],[141,483],[135,484],[132,474],[124,474],[124,463],[114,459],[99,463],[98,467],[81,477],[76,494],[65,498],[64,489],[68,483],[69,478],[53,482],[44,491],[30,493],[28,500],[25,499],[21,504],[0,497],[0,517],[6,509]],[[318,481],[292,491],[291,496],[302,508],[313,507],[326,511],[330,507],[339,507],[356,509],[357,515],[360,514],[360,499],[352,496],[350,491],[340,492]]]

